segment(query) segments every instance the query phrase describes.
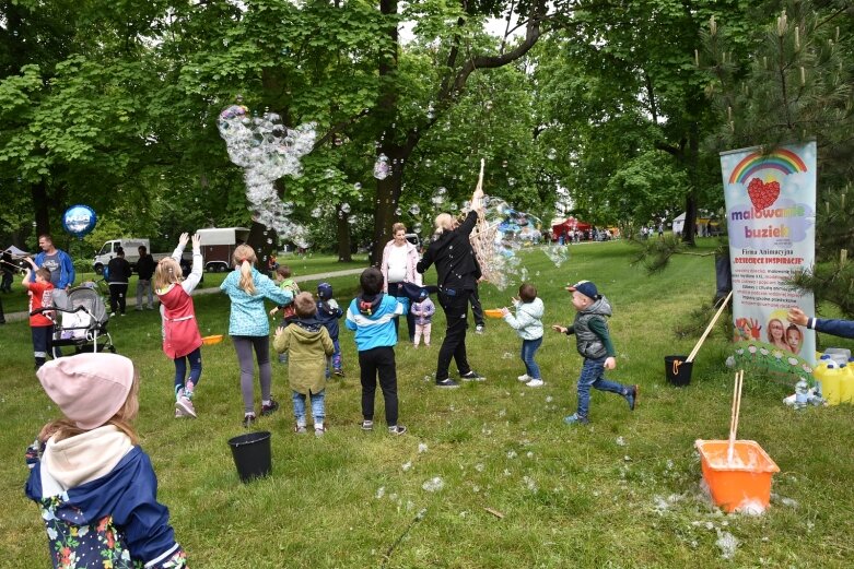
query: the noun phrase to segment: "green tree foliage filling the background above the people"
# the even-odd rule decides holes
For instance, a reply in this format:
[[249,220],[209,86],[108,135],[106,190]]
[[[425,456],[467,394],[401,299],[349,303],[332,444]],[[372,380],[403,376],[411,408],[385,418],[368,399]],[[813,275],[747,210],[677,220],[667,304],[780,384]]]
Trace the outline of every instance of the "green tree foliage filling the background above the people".
[[[183,230],[248,226],[243,173],[215,127],[237,95],[289,126],[317,125],[304,175],[279,191],[314,248],[341,258],[376,254],[398,220],[429,235],[432,197],[446,188],[461,205],[480,158],[488,193],[547,223],[559,201],[628,233],[687,212],[690,246],[698,213],[722,205],[720,150],[816,138],[829,272],[805,286],[835,283],[828,299],[844,304],[852,10],[0,0],[0,237],[33,248],[73,203],[101,217],[66,244],[81,254],[119,234],[167,250]],[[381,154],[393,164],[382,181]]]

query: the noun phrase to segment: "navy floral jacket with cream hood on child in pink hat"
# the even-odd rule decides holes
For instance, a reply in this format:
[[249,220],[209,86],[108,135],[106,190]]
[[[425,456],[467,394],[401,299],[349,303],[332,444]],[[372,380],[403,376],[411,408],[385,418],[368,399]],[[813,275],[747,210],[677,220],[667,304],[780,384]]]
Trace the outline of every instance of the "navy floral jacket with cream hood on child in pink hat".
[[54,567],[186,567],[149,457],[112,425],[27,451]]

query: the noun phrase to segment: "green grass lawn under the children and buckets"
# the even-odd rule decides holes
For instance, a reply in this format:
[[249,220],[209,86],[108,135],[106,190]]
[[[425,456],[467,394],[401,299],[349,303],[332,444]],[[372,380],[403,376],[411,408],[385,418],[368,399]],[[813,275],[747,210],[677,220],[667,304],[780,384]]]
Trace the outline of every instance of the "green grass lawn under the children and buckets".
[[[851,567],[854,407],[796,413],[782,404],[788,387],[749,372],[739,436],[758,441],[781,473],[764,515],[723,514],[703,495],[693,443],[727,436],[733,372],[724,366],[725,334],[718,331],[705,342],[689,387],[667,384],[664,374],[664,356],[687,354],[697,341],[677,339],[672,330],[711,300],[713,258],[679,258],[653,276],[631,266],[630,258],[627,244],[586,244],[572,246],[560,269],[540,251],[527,252],[524,264],[546,304],[547,327],[565,324],[574,315],[563,291],[568,283],[589,278],[608,296],[619,353],[609,377],[641,386],[633,413],[621,398],[594,392],[592,424],[565,426],[581,367],[574,341],[547,332],[537,357],[547,384],[526,388],[516,381],[524,372],[520,341],[500,320],[467,339],[469,360],[487,381],[436,390],[432,374],[444,336],[440,310],[432,347],[396,348],[400,420],[409,427],[402,437],[359,428],[360,384],[349,331],[341,333],[347,377],[329,384],[329,430],[323,439],[292,432],[286,371],[276,364],[273,394],[282,410],[257,425],[273,432],[273,475],[249,485],[238,482],[226,443],[243,432],[231,343],[204,347],[199,418],[176,420],[174,368],[161,352],[159,316],[113,319],[119,353],[141,370],[137,427],[191,565]],[[292,265],[297,275],[318,272],[307,260]],[[358,278],[331,282],[346,307]],[[506,305],[517,285],[482,286],[484,307]],[[226,298],[197,297],[196,311],[202,335],[226,333]],[[57,410],[34,378],[26,323],[0,330],[0,567],[48,567],[38,509],[23,495],[23,454]],[[382,408],[377,395],[379,426]],[[435,477],[443,487],[425,490]],[[737,546],[730,550],[727,543]]]

